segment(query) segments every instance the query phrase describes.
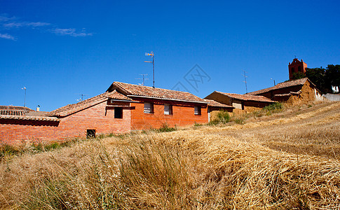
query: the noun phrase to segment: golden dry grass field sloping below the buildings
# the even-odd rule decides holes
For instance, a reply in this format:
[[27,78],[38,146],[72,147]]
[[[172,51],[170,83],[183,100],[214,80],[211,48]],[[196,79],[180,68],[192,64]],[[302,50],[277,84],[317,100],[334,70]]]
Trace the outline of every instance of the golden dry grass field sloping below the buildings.
[[4,155],[3,209],[340,209],[340,103]]

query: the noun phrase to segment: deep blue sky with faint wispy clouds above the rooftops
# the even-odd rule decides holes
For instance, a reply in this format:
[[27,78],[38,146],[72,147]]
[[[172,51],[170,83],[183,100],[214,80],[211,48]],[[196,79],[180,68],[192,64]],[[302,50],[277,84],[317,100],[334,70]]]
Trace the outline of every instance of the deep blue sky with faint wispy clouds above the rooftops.
[[[308,67],[340,62],[339,1],[0,0],[0,105],[52,111],[114,81],[181,83],[199,97],[245,93],[288,79],[296,55]],[[184,78],[198,64],[208,76]]]

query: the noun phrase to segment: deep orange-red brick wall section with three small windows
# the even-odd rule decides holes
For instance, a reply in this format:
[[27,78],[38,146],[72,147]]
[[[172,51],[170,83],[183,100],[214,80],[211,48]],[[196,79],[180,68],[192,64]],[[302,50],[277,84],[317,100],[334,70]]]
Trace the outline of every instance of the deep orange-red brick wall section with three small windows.
[[193,125],[196,123],[208,123],[208,109],[206,104],[196,104],[203,106],[201,115],[194,114],[195,104],[176,104],[172,102],[172,115],[164,114],[164,103],[154,102],[154,113],[144,113],[144,102],[134,103],[135,109],[131,111],[132,130],[149,130],[150,128],[161,127],[164,123],[170,127]]

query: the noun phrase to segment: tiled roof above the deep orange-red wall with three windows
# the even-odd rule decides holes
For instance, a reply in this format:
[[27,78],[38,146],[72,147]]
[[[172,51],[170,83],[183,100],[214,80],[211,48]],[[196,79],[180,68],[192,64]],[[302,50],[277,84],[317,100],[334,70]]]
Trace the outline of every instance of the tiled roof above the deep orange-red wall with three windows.
[[123,94],[128,97],[153,97],[157,99],[170,99],[170,100],[179,100],[186,102],[200,102],[206,103],[200,97],[196,97],[195,95],[189,92],[182,92],[177,90],[167,90],[156,87],[147,87],[142,85],[132,85],[128,83],[120,83],[114,82],[109,87],[108,91],[118,89]]

